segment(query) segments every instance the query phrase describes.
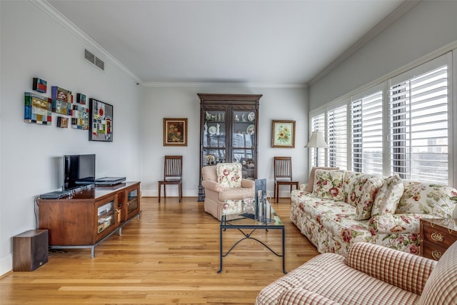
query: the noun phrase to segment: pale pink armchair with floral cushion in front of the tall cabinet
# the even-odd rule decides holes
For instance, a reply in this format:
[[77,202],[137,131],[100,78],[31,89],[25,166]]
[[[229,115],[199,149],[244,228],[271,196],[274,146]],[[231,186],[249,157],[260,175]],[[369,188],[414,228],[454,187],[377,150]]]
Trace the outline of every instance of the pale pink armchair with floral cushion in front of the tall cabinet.
[[[222,210],[224,204],[228,204],[227,201],[254,196],[255,182],[243,179],[241,163],[204,166],[201,169],[201,177],[201,185],[205,189],[204,209],[216,219],[221,220]],[[227,208],[230,209],[230,206]]]

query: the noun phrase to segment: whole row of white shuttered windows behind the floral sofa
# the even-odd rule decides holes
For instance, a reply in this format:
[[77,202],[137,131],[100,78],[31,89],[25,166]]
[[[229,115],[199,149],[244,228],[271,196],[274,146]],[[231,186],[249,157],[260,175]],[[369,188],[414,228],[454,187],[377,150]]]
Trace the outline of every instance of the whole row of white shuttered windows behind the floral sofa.
[[328,144],[310,151],[313,166],[455,184],[453,59],[457,49],[312,112]]

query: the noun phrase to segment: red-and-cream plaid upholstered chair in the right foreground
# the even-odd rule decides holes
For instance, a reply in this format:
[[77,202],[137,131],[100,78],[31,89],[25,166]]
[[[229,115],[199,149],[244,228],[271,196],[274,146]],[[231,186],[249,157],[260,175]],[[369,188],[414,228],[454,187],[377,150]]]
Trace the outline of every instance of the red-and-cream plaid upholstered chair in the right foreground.
[[439,261],[358,242],[325,253],[260,291],[256,304],[455,305],[457,241]]

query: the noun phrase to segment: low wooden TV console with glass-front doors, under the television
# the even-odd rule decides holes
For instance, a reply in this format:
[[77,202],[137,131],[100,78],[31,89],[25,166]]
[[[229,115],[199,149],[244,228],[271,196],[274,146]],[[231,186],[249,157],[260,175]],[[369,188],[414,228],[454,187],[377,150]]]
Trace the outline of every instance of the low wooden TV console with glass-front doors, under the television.
[[61,199],[38,199],[39,229],[51,249],[90,248],[140,214],[140,182],[94,186]]

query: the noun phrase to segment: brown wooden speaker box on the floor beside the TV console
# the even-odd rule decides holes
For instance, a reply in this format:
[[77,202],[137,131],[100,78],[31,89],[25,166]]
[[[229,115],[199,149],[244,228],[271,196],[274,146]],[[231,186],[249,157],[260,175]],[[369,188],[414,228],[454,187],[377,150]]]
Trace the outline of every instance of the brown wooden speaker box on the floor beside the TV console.
[[29,230],[13,237],[13,271],[34,271],[48,262],[49,233]]

